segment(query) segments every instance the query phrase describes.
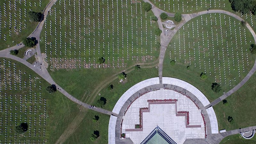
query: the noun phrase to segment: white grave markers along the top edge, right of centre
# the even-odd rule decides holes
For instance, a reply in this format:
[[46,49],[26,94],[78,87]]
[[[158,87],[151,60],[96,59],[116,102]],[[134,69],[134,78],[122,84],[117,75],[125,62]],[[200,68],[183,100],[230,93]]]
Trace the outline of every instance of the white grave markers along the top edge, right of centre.
[[227,0],[154,0],[154,3],[158,4],[160,9],[171,10],[171,12],[189,12],[192,10],[198,10],[205,8],[224,8],[225,4],[229,2]]

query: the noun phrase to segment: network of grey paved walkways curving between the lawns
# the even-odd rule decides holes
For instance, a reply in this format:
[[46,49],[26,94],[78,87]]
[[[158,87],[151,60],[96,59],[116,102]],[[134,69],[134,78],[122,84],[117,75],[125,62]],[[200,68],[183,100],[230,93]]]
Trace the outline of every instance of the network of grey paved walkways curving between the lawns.
[[[7,48],[7,49],[4,49],[2,51],[0,51],[0,57],[4,57],[4,58],[10,58],[10,59],[13,59],[15,61],[19,61],[21,62],[22,64],[26,65],[28,68],[32,69],[33,71],[35,71],[38,75],[40,75],[42,78],[44,78],[48,83],[50,84],[55,84],[57,88],[59,88],[60,92],[65,95],[66,97],[68,97],[70,100],[72,100],[73,102],[75,102],[76,104],[79,104],[79,105],[82,105],[83,107],[85,108],[88,108],[88,109],[91,109],[93,111],[97,111],[97,112],[101,112],[101,113],[105,113],[105,114],[108,114],[108,115],[114,115],[114,116],[120,116],[120,114],[116,114],[116,113],[113,113],[113,112],[110,112],[110,111],[107,111],[107,110],[104,110],[102,108],[90,108],[91,105],[89,104],[85,104],[83,102],[81,102],[80,100],[76,99],[75,97],[71,96],[70,94],[68,94],[67,91],[65,91],[64,89],[62,89],[57,83],[55,83],[52,79],[52,77],[50,76],[50,74],[48,73],[45,65],[44,65],[44,60],[42,58],[42,55],[41,55],[41,50],[40,50],[40,33],[42,31],[42,28],[43,28],[43,25],[44,25],[44,21],[45,21],[45,18],[47,17],[48,15],[48,11],[51,9],[51,7],[53,6],[53,4],[55,4],[57,0],[51,0],[46,8],[44,9],[44,17],[42,18],[42,21],[39,22],[39,24],[37,25],[36,29],[34,30],[34,32],[32,32],[28,37],[35,37],[36,40],[38,40],[38,43],[36,44],[36,52],[37,52],[37,55],[38,55],[38,61],[42,64],[42,67],[41,69],[39,68],[36,68],[34,67],[32,64],[28,63],[27,61],[19,58],[19,57],[16,57],[14,55],[11,55],[9,54],[9,51],[10,50],[14,50],[14,49],[20,49],[21,47],[24,47],[24,45],[19,45],[19,46],[13,46],[13,47],[10,47],[10,48]],[[159,28],[163,31],[163,25],[162,25],[162,22],[161,22],[161,18],[160,18],[160,14],[162,12],[165,12],[163,10],[160,10],[159,8],[157,8],[156,6],[154,6],[154,4],[152,4],[150,1],[148,0],[144,0],[145,2],[148,2],[152,5],[152,11],[154,13],[154,15],[159,19],[157,21],[158,23],[158,26]],[[182,22],[177,25],[173,30],[171,30],[171,32],[169,33],[168,36],[164,35],[164,32],[161,33],[161,36],[160,36],[160,39],[161,39],[161,49],[160,49],[160,54],[159,54],[159,82],[160,84],[163,83],[163,61],[164,61],[164,55],[165,55],[165,51],[166,51],[166,48],[168,46],[168,44],[170,43],[170,41],[172,40],[172,37],[176,34],[176,32],[184,25],[186,24],[189,20],[191,20],[192,18],[195,18],[197,16],[200,16],[200,15],[203,15],[203,14],[207,14],[208,13],[223,13],[223,14],[227,14],[229,16],[232,16],[236,19],[238,19],[239,21],[243,20],[242,18],[240,18],[239,16],[237,16],[236,14],[234,13],[231,13],[231,12],[228,12],[228,11],[223,11],[223,10],[209,10],[209,11],[201,11],[201,12],[198,12],[198,13],[192,13],[192,14],[183,14],[182,15]],[[165,12],[167,13],[167,12]],[[170,17],[174,17],[174,14],[173,13],[167,13],[168,16]],[[246,27],[249,29],[249,31],[252,33],[253,35],[253,38],[254,38],[254,41],[256,43],[256,34],[255,32],[252,30],[251,26],[250,25],[246,25]],[[221,97],[217,98],[216,100],[214,100],[212,103],[208,104],[207,106],[204,107],[204,110],[210,106],[213,106],[217,103],[219,103],[220,101],[222,101],[223,99],[227,98],[228,96],[230,96],[232,93],[234,93],[236,90],[238,90],[239,88],[241,88],[244,83],[246,83],[249,78],[253,75],[253,73],[256,71],[256,61],[254,63],[254,66],[253,68],[251,69],[251,71],[247,74],[246,77],[244,77],[244,79],[238,84],[236,85],[232,90],[228,91],[227,93],[225,93],[224,95],[222,95]],[[246,129],[246,128],[244,128]],[[249,127],[247,129],[255,129],[255,126],[254,127]],[[232,131],[227,131],[227,132],[224,132],[224,133],[218,133],[218,134],[215,134],[215,135],[212,135],[212,137],[209,137],[209,142],[213,142],[213,141],[220,141],[222,140],[224,137],[228,136],[228,135],[231,135],[231,134],[236,134],[236,133],[240,133],[241,130],[243,129],[237,129],[237,130],[232,130]],[[213,140],[213,139],[216,139],[216,140]],[[212,141],[211,141],[212,140]],[[195,141],[191,141],[189,139],[186,140],[188,143],[194,143]],[[185,142],[186,142],[185,141]],[[199,142],[199,141],[198,141]]]

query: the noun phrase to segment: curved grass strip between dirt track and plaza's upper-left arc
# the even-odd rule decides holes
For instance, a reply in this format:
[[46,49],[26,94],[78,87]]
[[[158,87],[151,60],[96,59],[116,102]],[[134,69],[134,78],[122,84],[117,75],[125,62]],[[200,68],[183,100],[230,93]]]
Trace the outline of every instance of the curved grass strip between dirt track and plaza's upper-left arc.
[[[107,103],[103,108],[112,111],[116,102],[126,90],[130,89],[136,83],[153,77],[158,77],[158,68],[141,68],[140,70],[133,70],[127,74],[127,82],[122,84],[119,82],[119,79],[116,79],[112,83],[109,83],[107,87],[103,88],[100,91],[100,96],[98,95],[96,99],[105,97]],[[111,84],[113,84],[113,90],[108,90],[107,88]],[[97,105],[96,101],[92,102],[92,104]]]

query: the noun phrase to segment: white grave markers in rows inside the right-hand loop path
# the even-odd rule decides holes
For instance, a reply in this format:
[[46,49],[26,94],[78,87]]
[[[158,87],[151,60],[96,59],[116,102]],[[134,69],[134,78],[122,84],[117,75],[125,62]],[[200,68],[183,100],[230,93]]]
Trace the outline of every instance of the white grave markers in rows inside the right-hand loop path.
[[[247,45],[245,28],[241,30],[240,22],[232,21],[229,16],[228,18],[226,17],[222,14],[210,14],[210,18],[201,16],[201,24],[198,24],[198,20],[196,21],[196,31],[200,31],[199,33],[202,33],[202,35],[198,33],[193,35],[199,41],[193,42],[192,45],[187,42],[190,40],[189,32],[187,31],[188,29],[194,31],[194,21],[184,25],[184,31],[179,30],[177,33],[179,44],[177,45],[175,42],[170,44],[170,47],[173,47],[174,50],[173,53],[172,50],[170,51],[170,60],[173,59],[187,65],[194,65],[199,69],[204,68],[202,72],[208,75],[215,75],[215,81],[220,83],[228,83],[226,74],[231,75],[233,73],[233,78],[228,76],[230,79],[229,84],[231,85],[231,80],[235,81],[236,76],[240,77],[240,73],[245,72],[245,65],[249,65],[249,61],[248,51],[244,49]],[[212,23],[212,19],[215,24]],[[209,20],[211,21],[210,25]],[[216,29],[215,25],[218,25],[219,28]],[[225,25],[225,30],[223,30],[223,25]],[[210,31],[204,29],[205,27],[211,27]],[[231,41],[227,39],[231,39]],[[205,44],[206,42],[207,44]]]

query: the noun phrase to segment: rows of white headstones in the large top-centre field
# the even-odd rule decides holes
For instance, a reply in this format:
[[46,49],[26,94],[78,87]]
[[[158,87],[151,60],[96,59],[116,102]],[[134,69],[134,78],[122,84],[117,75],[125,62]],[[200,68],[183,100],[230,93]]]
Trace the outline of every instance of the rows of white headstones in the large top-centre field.
[[[61,3],[64,3],[64,4],[61,4]],[[54,18],[54,20],[53,19],[49,20],[49,18],[47,18],[45,20],[45,24],[44,24],[44,27],[46,29],[44,31],[45,53],[49,57],[46,60],[58,61],[56,63],[59,63],[59,62],[61,63],[61,61],[72,61],[72,60],[77,61],[77,59],[76,59],[76,55],[77,55],[79,61],[84,61],[84,68],[86,66],[86,64],[85,64],[86,62],[89,63],[89,67],[91,65],[93,65],[93,67],[95,67],[96,66],[95,63],[97,63],[96,61],[99,58],[99,57],[97,58],[95,56],[95,54],[96,55],[103,54],[103,55],[108,55],[107,57],[105,57],[105,60],[106,60],[105,63],[108,63],[108,67],[110,67],[110,65],[115,67],[116,63],[112,63],[111,62],[112,60],[113,61],[117,60],[117,67],[119,67],[119,66],[124,67],[124,63],[123,62],[119,63],[119,62],[125,60],[124,55],[126,55],[126,54],[127,54],[126,59],[127,60],[130,59],[131,52],[129,53],[128,47],[131,47],[132,55],[133,55],[133,53],[135,53],[135,54],[140,53],[140,50],[138,47],[139,45],[143,45],[143,44],[148,45],[148,34],[152,34],[152,31],[148,30],[147,20],[144,20],[141,16],[141,14],[142,14],[141,3],[136,3],[136,4],[132,5],[132,1],[128,2],[127,0],[121,1],[121,4],[118,4],[117,1],[114,2],[113,0],[112,1],[102,1],[102,4],[105,4],[107,6],[107,9],[100,8],[100,3],[101,2],[99,2],[99,0],[92,0],[92,1],[88,0],[87,2],[86,2],[86,0],[83,0],[83,1],[75,1],[75,0],[59,1],[59,5],[63,5],[63,7],[64,7],[64,14],[65,14],[64,18],[62,16],[63,12],[61,10],[57,10],[56,6],[53,6],[53,8],[49,11],[49,16],[52,16]],[[129,6],[128,3],[131,3],[131,5]],[[57,4],[55,4],[55,5],[57,5]],[[116,5],[116,7],[114,6],[114,4]],[[74,9],[68,10],[66,5],[69,5],[69,7],[70,7],[70,5],[73,5]],[[86,7],[82,8],[82,5],[88,6],[88,8],[86,8]],[[93,7],[90,7],[90,5]],[[134,7],[134,5],[135,5],[135,7]],[[126,8],[128,8],[128,10],[121,9],[121,11],[120,11],[120,6],[121,6],[121,8],[126,7]],[[78,7],[78,9],[77,9],[77,7]],[[132,17],[135,17],[136,20],[131,18],[132,31],[127,30],[125,32],[124,25],[128,25],[128,21],[130,20],[130,19],[128,19],[129,7],[131,8],[130,11],[131,11]],[[140,8],[137,8],[137,7],[140,7]],[[135,14],[134,14],[134,10],[135,10]],[[126,22],[124,20],[125,11],[126,11],[126,17],[127,17]],[[95,19],[94,17],[91,16],[92,13],[93,13],[93,15],[98,15],[98,17],[100,17],[100,15],[103,15],[103,17],[102,17],[103,20],[101,21],[100,18]],[[140,14],[140,16],[137,16],[137,14]],[[66,16],[66,15],[68,15],[68,16]],[[74,21],[77,21],[76,20],[77,15],[78,15],[79,23],[74,22]],[[87,15],[88,15],[88,17],[86,17]],[[147,17],[147,15],[146,15],[146,17]],[[63,22],[63,19],[64,19],[64,22]],[[121,23],[121,20],[122,20],[122,23]],[[49,24],[49,22],[50,22],[50,24]],[[111,32],[111,30],[109,30],[105,27],[106,24],[111,25],[111,23],[112,23],[112,32]],[[135,23],[136,23],[136,29],[138,29],[138,28],[142,29],[144,27],[146,28],[146,40],[145,40],[145,38],[143,39],[144,34],[142,33],[142,30],[141,31],[136,30],[136,34],[135,34],[135,30],[134,30]],[[61,31],[59,31],[59,28],[57,26],[57,25],[60,25],[60,27],[61,27],[61,25],[63,26],[63,24],[65,25],[65,27],[67,27],[69,29],[67,32],[64,32],[64,35],[61,33]],[[121,27],[122,31],[120,28],[121,25],[122,25],[122,27]],[[152,24],[150,22],[150,26],[151,25]],[[100,32],[101,29],[103,29],[103,31]],[[98,32],[95,32],[95,31],[98,31]],[[150,31],[150,33],[149,33],[149,31]],[[79,33],[79,37],[76,36],[76,33]],[[128,37],[129,33],[131,34],[132,38]],[[124,36],[124,34],[127,34],[127,38],[126,38],[126,36]],[[134,34],[135,34],[135,36],[134,36]],[[138,39],[139,35],[140,35],[141,41]],[[47,38],[49,36],[51,36],[54,39],[52,42],[47,44]],[[103,39],[102,42],[97,40],[97,37]],[[107,39],[113,39],[113,40],[115,40],[115,37],[117,37],[117,38],[116,38],[115,42],[113,41],[113,43],[111,43],[109,41],[105,41],[106,37],[107,37]],[[67,40],[67,38],[69,38],[69,41]],[[66,40],[64,42],[64,47],[63,47],[62,40],[64,40],[64,39],[66,39]],[[152,36],[151,35],[150,35],[150,39],[151,39],[150,40],[150,47],[151,47],[150,53],[152,53]],[[76,40],[76,41],[79,40],[79,45],[77,46],[76,42],[73,42],[73,40]],[[125,52],[125,48],[126,48],[124,46],[125,40],[127,41],[127,52]],[[135,41],[135,43],[133,43],[133,41]],[[136,48],[135,51],[133,50],[134,47]],[[63,48],[64,48],[64,51],[63,51]],[[84,50],[82,50],[82,49],[84,49]],[[122,50],[120,51],[120,49],[122,49]],[[86,53],[86,51],[89,53]],[[63,54],[63,52],[64,52],[64,54]],[[92,54],[92,52],[93,52],[93,54]],[[111,57],[109,57],[111,52],[112,52],[112,54],[117,54],[119,56],[117,56],[117,57],[113,56],[111,58]],[[145,47],[141,46],[141,54],[143,54],[143,52],[146,53],[146,55],[148,55],[148,49],[145,50]],[[75,58],[72,58],[72,60],[71,60],[71,58],[67,58],[73,54],[75,55],[74,56]],[[83,57],[82,55],[84,55],[85,57]],[[62,58],[57,58],[57,57],[62,57]],[[139,59],[138,56],[132,56],[132,60],[133,60],[133,58],[136,58],[136,57],[137,57],[137,60]],[[86,61],[86,58],[88,58],[88,61]],[[143,58],[143,56],[141,56],[141,59],[142,58]],[[148,58],[148,56],[147,56],[147,58]],[[152,56],[151,56],[151,59],[152,59]],[[81,63],[81,62],[78,62],[78,63]],[[91,64],[91,63],[93,63],[93,64]],[[103,66],[105,66],[105,64],[103,64]],[[50,67],[51,68],[67,68],[67,65],[64,64],[64,67],[63,67],[62,64],[53,64]],[[69,67],[76,68],[76,64],[69,64]],[[81,64],[79,64],[79,68],[81,68]]]

